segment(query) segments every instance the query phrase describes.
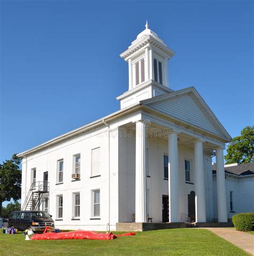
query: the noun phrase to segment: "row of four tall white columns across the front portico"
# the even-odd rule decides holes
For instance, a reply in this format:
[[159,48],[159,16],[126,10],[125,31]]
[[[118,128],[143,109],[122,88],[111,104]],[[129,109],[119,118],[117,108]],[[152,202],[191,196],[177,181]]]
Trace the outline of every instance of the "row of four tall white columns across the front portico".
[[[179,168],[177,132],[168,136],[168,188],[169,222],[180,222],[179,205]],[[146,222],[146,125],[143,120],[136,122],[136,222]],[[194,169],[196,186],[196,222],[206,222],[205,179],[203,163],[203,141],[194,142]],[[227,222],[225,171],[223,148],[216,149],[218,221]]]

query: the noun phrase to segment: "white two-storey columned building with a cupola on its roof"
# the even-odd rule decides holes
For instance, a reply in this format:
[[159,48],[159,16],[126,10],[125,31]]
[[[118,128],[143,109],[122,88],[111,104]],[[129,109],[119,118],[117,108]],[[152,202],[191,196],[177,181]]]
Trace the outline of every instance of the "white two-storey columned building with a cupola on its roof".
[[48,211],[60,229],[228,221],[223,149],[231,137],[194,87],[169,87],[174,54],[146,25],[120,55],[129,65],[121,109],[19,154],[24,210]]

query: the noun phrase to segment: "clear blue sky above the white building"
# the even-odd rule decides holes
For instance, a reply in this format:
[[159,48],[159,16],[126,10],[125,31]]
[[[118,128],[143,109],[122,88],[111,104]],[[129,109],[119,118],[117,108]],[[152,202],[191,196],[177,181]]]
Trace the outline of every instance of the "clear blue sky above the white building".
[[0,161],[119,109],[145,22],[232,137],[253,124],[252,1],[1,1]]

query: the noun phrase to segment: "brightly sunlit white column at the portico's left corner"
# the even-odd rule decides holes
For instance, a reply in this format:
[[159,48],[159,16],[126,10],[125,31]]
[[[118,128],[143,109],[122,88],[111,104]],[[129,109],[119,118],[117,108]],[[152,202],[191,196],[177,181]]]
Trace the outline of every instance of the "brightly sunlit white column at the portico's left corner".
[[146,222],[146,126],[136,122],[136,222]]

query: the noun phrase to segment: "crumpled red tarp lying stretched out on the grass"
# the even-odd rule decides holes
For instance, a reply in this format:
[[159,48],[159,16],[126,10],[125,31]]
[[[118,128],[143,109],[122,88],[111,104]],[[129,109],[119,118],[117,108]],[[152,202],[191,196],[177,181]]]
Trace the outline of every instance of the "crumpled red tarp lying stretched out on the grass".
[[31,240],[59,240],[59,239],[110,240],[110,239],[123,237],[123,236],[135,236],[135,233],[118,234],[118,236],[116,236],[111,232],[99,233],[95,231],[77,230],[77,231],[61,232],[61,233],[34,234],[30,239]]

